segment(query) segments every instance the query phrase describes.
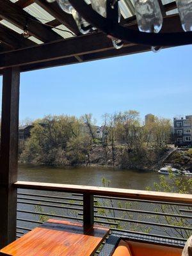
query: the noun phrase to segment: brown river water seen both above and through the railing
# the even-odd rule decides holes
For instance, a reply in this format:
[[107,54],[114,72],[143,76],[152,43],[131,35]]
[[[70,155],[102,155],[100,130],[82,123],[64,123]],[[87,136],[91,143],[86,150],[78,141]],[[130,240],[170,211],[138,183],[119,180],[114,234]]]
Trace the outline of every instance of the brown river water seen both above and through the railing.
[[[152,190],[154,182],[159,181],[159,174],[157,172],[151,171],[141,171],[141,170],[121,170],[106,167],[78,167],[78,168],[51,168],[49,166],[33,166],[33,165],[20,165],[19,166],[19,180],[31,181],[31,182],[51,182],[51,183],[61,183],[61,184],[78,184],[87,186],[103,186],[102,179],[111,180],[109,184],[112,188],[125,188],[125,189],[140,189],[145,190],[147,186],[150,186]],[[168,178],[168,177],[167,177]],[[70,220],[77,221],[76,218],[82,218],[82,208],[81,203],[75,198],[81,198],[81,196],[72,195],[70,193],[56,192],[56,191],[31,191],[28,189],[19,189],[19,193],[30,193],[31,196],[21,195],[18,197],[17,209],[20,211],[17,214],[17,226],[23,228],[35,228],[38,223],[35,221],[46,221],[49,218],[61,218],[65,219],[66,216],[70,216]],[[36,195],[36,196],[35,196]],[[42,197],[41,195],[45,195]],[[60,196],[60,198],[51,198],[50,196]],[[64,199],[65,196],[73,198],[74,202],[78,205],[68,205],[68,202],[72,202],[71,199]],[[33,200],[30,200],[33,198]],[[121,207],[129,208],[134,210],[144,211],[158,211],[161,212],[159,206],[150,203],[136,203],[127,202],[124,200],[108,200],[95,198],[99,204],[108,207]],[[41,202],[41,200],[43,200]],[[46,202],[46,200],[48,200]],[[52,201],[50,201],[52,200]],[[27,202],[27,204],[26,204]],[[28,204],[30,202],[30,204]],[[49,205],[50,204],[50,205]],[[129,205],[127,205],[129,204]],[[67,207],[77,207],[78,209]],[[122,205],[122,206],[120,206]],[[79,209],[79,207],[81,209]],[[178,210],[178,209],[177,209]],[[97,211],[99,211],[97,209]],[[172,212],[167,209],[168,212]],[[113,218],[123,218],[140,220],[140,221],[150,221],[154,223],[165,223],[166,219],[163,216],[156,219],[154,215],[141,214],[140,212],[122,212],[122,211],[106,211],[109,217]],[[79,214],[80,213],[80,214]],[[176,212],[177,213],[177,212]],[[103,215],[97,212],[99,215]],[[33,220],[29,222],[28,220]],[[68,220],[68,219],[67,219]],[[99,220],[99,219],[98,219]],[[101,219],[103,220],[103,219]],[[99,220],[99,221],[101,221]],[[109,221],[107,219],[107,221]],[[113,221],[114,222],[114,221]],[[99,222],[100,223],[100,222]],[[117,224],[116,224],[117,225]],[[148,224],[135,224],[131,221],[120,221],[120,225],[126,230],[135,230],[140,232],[149,232],[151,234],[159,234],[165,236],[170,234],[170,236],[179,236],[173,228],[166,228],[166,233],[162,227],[157,227],[156,225]],[[117,227],[117,226],[115,226]],[[147,228],[147,229],[146,229]],[[150,230],[148,230],[150,228]],[[28,230],[24,229],[24,232]],[[181,231],[180,233],[181,234]],[[20,234],[17,234],[20,236]]]

